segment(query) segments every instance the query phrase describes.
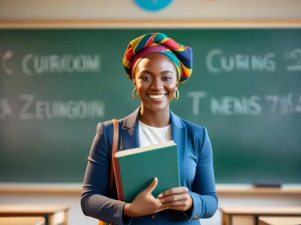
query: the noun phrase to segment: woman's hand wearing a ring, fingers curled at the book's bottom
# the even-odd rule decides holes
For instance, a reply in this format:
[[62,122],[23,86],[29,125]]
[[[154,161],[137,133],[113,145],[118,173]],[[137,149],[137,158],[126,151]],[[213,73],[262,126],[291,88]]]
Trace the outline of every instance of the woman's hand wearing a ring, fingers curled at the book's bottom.
[[193,205],[192,198],[188,194],[187,187],[173,187],[158,195],[162,207],[186,211]]

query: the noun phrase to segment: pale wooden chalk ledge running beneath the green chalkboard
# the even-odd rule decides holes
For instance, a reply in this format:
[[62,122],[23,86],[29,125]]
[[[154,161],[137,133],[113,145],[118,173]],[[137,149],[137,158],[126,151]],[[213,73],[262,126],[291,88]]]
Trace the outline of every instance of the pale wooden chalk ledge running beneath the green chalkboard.
[[[11,184],[0,183],[0,194],[11,195],[80,195],[82,184]],[[218,196],[300,196],[301,184],[282,188],[254,188],[251,185],[217,184]]]

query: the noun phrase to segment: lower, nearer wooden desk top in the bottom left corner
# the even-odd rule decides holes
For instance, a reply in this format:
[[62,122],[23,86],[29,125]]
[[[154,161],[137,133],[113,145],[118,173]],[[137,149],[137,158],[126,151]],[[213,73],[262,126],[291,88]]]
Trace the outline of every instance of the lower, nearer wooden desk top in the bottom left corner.
[[1,225],[45,225],[44,217],[0,217]]

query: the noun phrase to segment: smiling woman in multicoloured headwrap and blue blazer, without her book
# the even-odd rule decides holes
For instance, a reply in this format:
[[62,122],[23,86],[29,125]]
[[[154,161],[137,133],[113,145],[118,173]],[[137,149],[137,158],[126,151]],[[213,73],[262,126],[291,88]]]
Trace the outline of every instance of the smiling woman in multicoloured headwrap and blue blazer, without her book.
[[115,200],[116,194],[108,193],[113,124],[107,121],[98,124],[88,157],[82,211],[119,225],[200,224],[198,218],[212,217],[218,205],[211,143],[206,128],[169,110],[172,99],[179,97],[178,84],[191,75],[192,50],[164,34],[146,34],[129,43],[123,65],[134,82],[133,98],[141,100],[141,107],[119,120],[123,149],[174,140],[182,187],[155,198],[151,192],[160,182],[155,178],[133,202]]

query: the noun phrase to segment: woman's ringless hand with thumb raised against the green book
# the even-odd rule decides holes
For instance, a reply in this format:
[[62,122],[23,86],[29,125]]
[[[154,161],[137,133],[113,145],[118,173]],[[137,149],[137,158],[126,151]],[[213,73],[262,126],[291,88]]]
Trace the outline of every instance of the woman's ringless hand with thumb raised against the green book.
[[155,178],[151,184],[143,191],[141,191],[132,203],[126,203],[124,205],[124,214],[130,217],[144,216],[160,212],[166,207],[162,207],[162,203],[159,199],[151,194],[158,184],[158,179]]

